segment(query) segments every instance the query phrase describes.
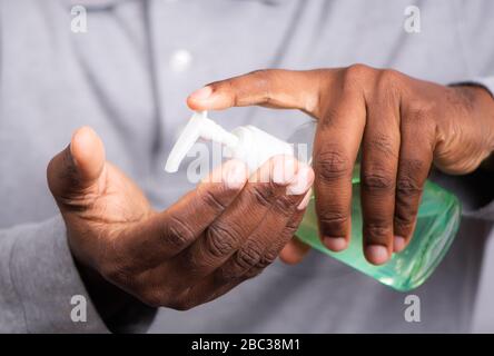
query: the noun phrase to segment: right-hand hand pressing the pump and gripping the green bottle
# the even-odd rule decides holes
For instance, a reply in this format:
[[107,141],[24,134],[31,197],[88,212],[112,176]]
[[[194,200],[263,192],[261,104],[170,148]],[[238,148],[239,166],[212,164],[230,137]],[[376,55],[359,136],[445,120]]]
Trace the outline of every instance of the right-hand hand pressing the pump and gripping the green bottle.
[[[210,83],[188,105],[299,109],[317,119],[316,211],[320,238],[334,251],[349,243],[352,171],[360,149],[364,254],[375,265],[409,243],[432,165],[464,175],[494,149],[494,100],[485,89],[446,87],[363,65],[255,71]],[[297,263],[307,250],[294,240],[281,258]]]

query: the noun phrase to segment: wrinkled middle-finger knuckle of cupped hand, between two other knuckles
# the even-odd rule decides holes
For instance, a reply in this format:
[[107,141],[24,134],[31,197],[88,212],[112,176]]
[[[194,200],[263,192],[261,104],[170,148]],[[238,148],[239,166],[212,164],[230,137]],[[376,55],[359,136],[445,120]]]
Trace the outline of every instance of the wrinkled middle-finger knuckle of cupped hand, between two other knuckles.
[[229,255],[241,239],[239,228],[235,224],[215,222],[207,230],[206,247],[215,257]]

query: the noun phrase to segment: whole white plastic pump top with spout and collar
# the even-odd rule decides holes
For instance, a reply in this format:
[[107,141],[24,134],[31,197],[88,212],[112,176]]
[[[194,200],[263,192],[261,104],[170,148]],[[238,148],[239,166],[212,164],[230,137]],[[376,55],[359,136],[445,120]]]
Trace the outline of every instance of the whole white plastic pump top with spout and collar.
[[171,149],[165,170],[176,172],[181,160],[199,139],[213,140],[225,146],[225,156],[244,161],[254,172],[276,155],[294,156],[294,148],[273,135],[251,125],[240,126],[231,132],[207,117],[206,111],[195,112]]

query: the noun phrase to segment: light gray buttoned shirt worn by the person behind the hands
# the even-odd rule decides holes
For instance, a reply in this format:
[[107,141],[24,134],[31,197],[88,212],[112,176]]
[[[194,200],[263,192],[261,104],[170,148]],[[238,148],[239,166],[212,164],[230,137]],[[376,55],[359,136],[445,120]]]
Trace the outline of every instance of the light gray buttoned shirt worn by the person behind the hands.
[[[421,10],[419,33],[403,27],[411,3]],[[71,31],[72,4],[86,6],[87,33]],[[108,332],[45,178],[77,127],[92,126],[108,159],[166,208],[192,188],[184,171],[162,167],[194,89],[259,68],[363,62],[494,90],[493,17],[487,0],[0,0],[0,332]],[[249,122],[281,138],[307,119],[261,108],[211,116],[228,128]],[[493,230],[492,182],[481,172],[433,179],[465,209],[446,258],[413,291],[421,323],[405,320],[406,294],[313,251],[295,267],[275,263],[192,310],[162,308],[151,325],[131,306],[116,329],[468,332]],[[75,295],[88,298],[86,323],[70,318]],[[492,308],[477,313],[493,325]]]

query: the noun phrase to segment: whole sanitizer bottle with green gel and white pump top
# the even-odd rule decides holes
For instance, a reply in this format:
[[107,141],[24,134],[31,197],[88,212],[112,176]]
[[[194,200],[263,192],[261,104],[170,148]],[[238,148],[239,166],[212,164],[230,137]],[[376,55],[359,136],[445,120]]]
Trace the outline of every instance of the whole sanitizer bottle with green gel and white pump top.
[[[238,127],[228,132],[208,119],[206,112],[196,112],[174,146],[165,169],[168,172],[177,171],[180,161],[199,138],[224,145],[227,156],[245,161],[250,172],[276,155],[293,155],[298,156],[298,159],[304,159],[304,155],[297,151],[297,147],[304,147],[306,152],[310,154],[315,129],[315,122],[302,126],[290,138],[289,141],[294,144],[290,145],[254,126]],[[352,240],[348,248],[333,253],[323,245],[317,228],[314,199],[310,200],[296,235],[323,254],[389,287],[406,291],[422,285],[437,267],[455,237],[460,218],[458,199],[439,186],[427,181],[418,208],[414,236],[408,246],[403,251],[394,254],[392,259],[384,265],[369,264],[363,253],[359,165],[357,164],[353,176]]]

